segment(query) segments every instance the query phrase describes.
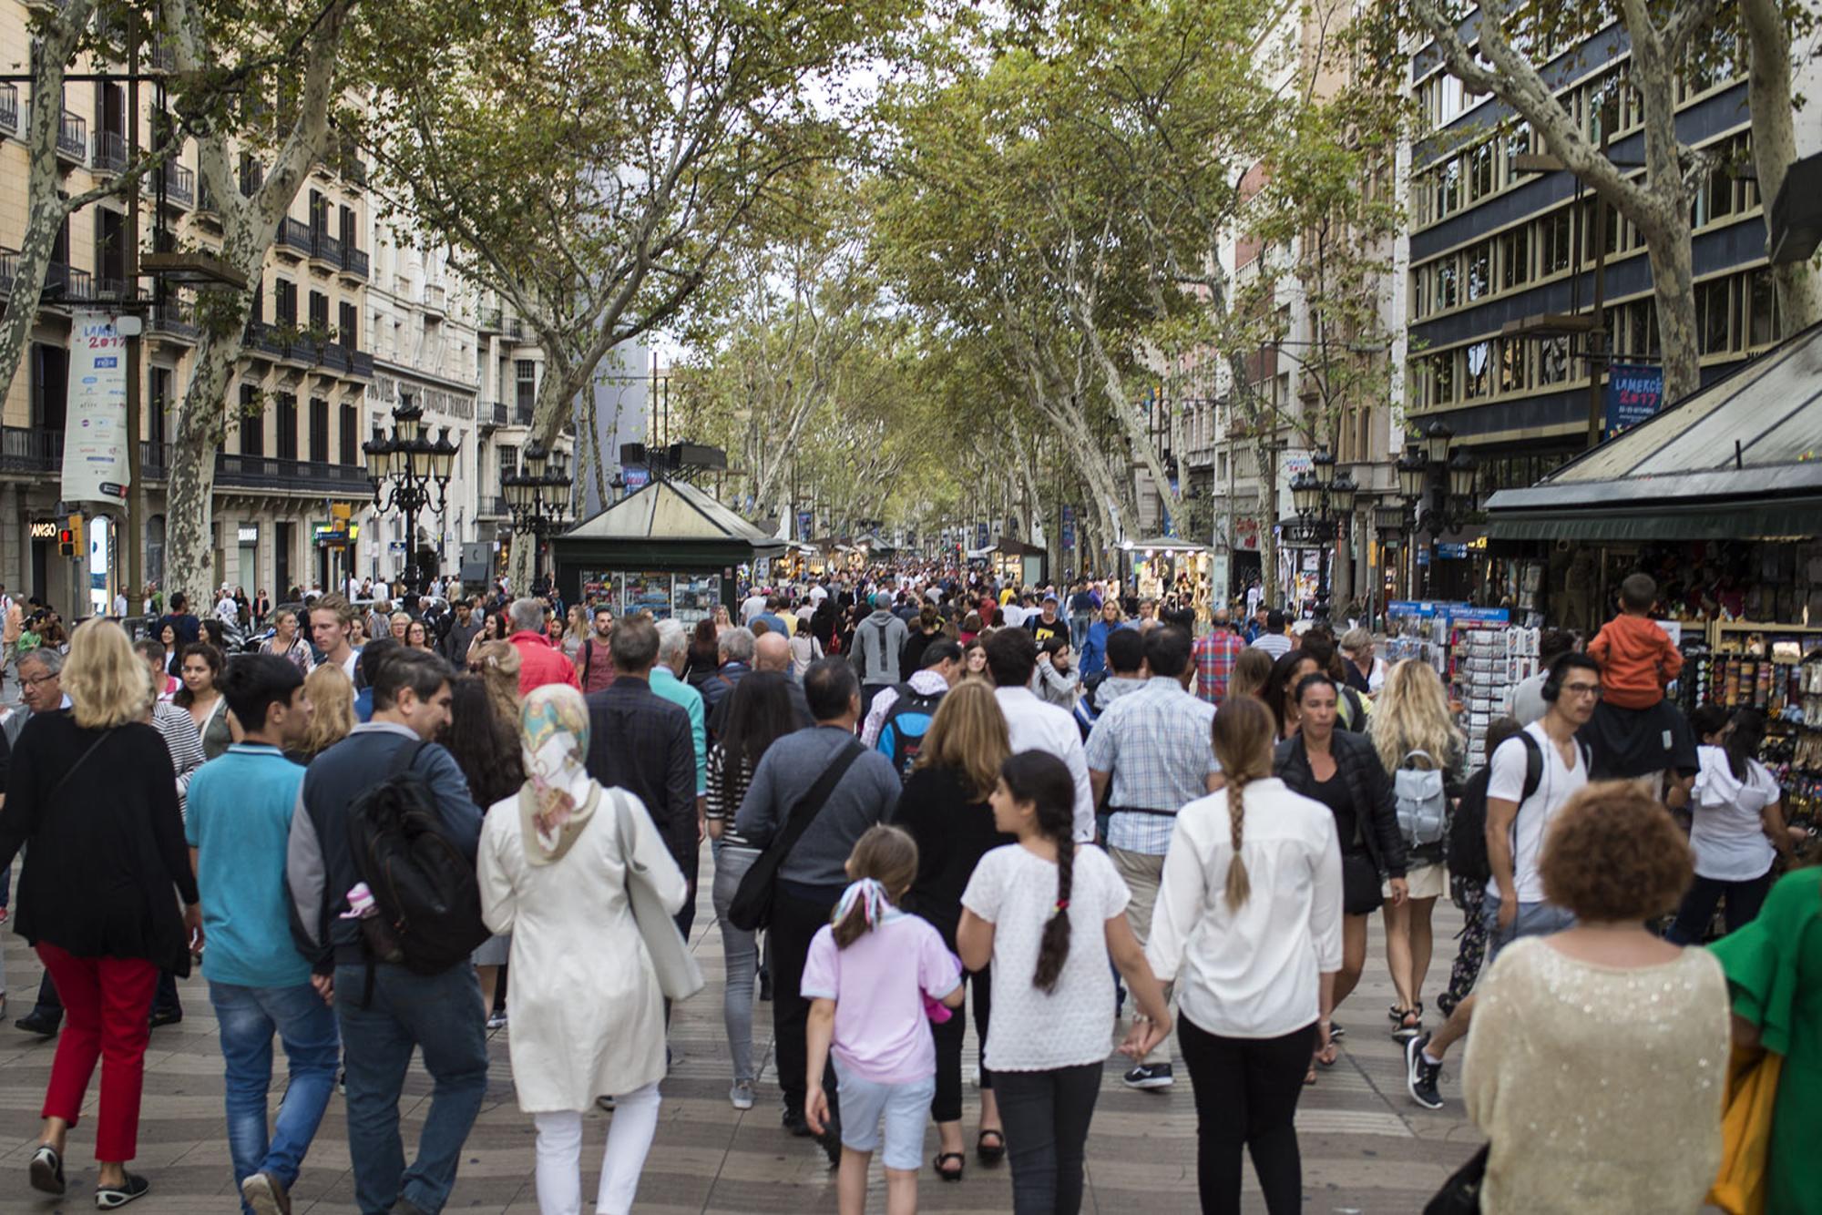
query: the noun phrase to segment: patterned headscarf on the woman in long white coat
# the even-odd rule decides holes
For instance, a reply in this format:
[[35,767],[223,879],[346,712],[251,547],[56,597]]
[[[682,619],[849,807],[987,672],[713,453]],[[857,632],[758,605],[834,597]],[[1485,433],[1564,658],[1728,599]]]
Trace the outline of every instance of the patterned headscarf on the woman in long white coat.
[[519,791],[525,860],[548,865],[576,843],[599,792],[583,767],[589,705],[581,692],[563,683],[532,689],[519,710],[519,747],[525,752],[525,787]]

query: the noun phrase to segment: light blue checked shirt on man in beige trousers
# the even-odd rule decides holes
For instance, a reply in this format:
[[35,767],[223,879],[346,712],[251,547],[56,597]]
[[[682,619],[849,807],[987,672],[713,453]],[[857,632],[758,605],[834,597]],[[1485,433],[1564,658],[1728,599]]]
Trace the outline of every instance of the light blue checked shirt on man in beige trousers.
[[1088,732],[1088,767],[1111,774],[1108,847],[1150,856],[1170,849],[1177,811],[1206,796],[1208,778],[1221,771],[1208,738],[1213,723],[1215,707],[1168,676],[1146,679],[1102,710]]

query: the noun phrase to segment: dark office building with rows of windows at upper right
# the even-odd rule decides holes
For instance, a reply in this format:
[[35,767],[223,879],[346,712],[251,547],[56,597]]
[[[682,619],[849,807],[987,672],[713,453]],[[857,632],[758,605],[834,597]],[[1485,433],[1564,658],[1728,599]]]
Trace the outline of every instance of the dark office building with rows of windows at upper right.
[[[1591,140],[1607,126],[1616,164],[1643,162],[1629,58],[1625,29],[1612,24],[1541,67]],[[1795,91],[1813,95],[1818,71],[1804,56]],[[1536,483],[1587,446],[1589,375],[1605,381],[1605,361],[1591,368],[1581,337],[1510,330],[1527,317],[1592,311],[1596,202],[1591,191],[1578,197],[1569,173],[1523,171],[1518,158],[1543,151],[1541,140],[1498,98],[1465,95],[1434,47],[1412,56],[1410,87],[1427,129],[1410,149],[1408,423],[1447,423],[1479,459],[1485,499]],[[1691,204],[1704,381],[1766,350],[1782,330],[1745,95],[1744,51],[1720,71],[1691,66],[1676,89],[1678,138],[1722,153]],[[1796,138],[1798,155],[1813,153],[1822,126],[1798,120]],[[1611,208],[1600,251],[1605,350],[1620,362],[1653,362],[1660,346],[1651,264],[1638,231]],[[1472,543],[1474,530],[1452,539]]]

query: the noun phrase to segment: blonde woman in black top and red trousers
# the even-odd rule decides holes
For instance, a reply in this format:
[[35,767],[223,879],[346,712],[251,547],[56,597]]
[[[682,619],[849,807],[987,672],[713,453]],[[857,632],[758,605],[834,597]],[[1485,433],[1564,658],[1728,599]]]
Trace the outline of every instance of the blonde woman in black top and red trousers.
[[151,996],[160,969],[189,975],[202,909],[171,754],[146,725],[151,679],[126,630],[107,619],[82,623],[62,678],[75,709],[33,714],[13,752],[0,869],[27,845],[16,931],[38,951],[69,1016],[44,1095],[31,1188],[64,1193],[66,1138],[106,1055],[95,1204],[111,1210],[149,1189],[126,1162],[138,1153]]

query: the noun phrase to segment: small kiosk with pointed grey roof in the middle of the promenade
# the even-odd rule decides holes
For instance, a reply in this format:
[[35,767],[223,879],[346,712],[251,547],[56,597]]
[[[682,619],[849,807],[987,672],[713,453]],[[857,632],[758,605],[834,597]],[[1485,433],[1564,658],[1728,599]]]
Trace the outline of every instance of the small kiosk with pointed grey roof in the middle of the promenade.
[[565,599],[607,603],[616,614],[650,612],[683,625],[734,608],[738,572],[785,554],[687,481],[652,481],[550,539]]

